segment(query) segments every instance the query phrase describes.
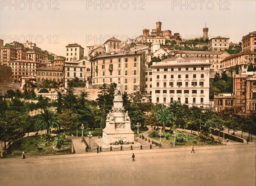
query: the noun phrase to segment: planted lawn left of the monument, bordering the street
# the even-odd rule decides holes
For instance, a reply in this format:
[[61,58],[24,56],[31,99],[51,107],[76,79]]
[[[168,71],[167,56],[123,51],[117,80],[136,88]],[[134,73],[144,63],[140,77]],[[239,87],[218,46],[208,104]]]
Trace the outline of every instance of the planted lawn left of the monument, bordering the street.
[[[56,151],[56,149],[53,149],[54,138],[55,136],[52,136],[48,144],[41,136],[23,137],[12,143],[11,149],[7,149],[7,154],[3,153],[3,158],[21,158],[22,152],[25,152],[26,157],[71,154],[72,142],[70,139],[66,139],[62,148]],[[40,149],[40,151],[38,149]]]

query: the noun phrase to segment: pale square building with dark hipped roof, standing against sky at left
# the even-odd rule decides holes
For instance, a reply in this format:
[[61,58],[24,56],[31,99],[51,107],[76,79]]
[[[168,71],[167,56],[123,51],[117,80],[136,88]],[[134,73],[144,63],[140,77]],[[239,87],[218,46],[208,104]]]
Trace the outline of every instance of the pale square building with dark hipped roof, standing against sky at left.
[[76,60],[81,60],[82,58],[84,58],[84,48],[77,43],[68,44],[66,46],[66,51],[67,51],[67,55],[66,55],[67,61],[72,61],[74,57],[76,57]]

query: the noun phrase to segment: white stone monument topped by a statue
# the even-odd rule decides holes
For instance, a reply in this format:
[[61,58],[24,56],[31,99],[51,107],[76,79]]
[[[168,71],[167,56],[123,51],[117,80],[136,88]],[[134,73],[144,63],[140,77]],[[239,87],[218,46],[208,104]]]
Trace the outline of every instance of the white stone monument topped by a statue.
[[128,111],[125,112],[122,100],[122,84],[117,83],[114,93],[112,110],[106,119],[106,127],[102,130],[102,145],[109,146],[110,143],[122,140],[124,143],[134,142],[134,132],[131,130],[131,121]]

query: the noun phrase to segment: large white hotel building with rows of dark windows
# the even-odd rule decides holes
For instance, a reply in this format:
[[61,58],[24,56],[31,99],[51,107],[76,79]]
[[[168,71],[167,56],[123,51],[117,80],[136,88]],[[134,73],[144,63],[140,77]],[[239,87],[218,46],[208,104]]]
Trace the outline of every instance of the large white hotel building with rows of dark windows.
[[166,59],[151,65],[152,103],[168,105],[174,100],[188,106],[210,109],[209,60]]

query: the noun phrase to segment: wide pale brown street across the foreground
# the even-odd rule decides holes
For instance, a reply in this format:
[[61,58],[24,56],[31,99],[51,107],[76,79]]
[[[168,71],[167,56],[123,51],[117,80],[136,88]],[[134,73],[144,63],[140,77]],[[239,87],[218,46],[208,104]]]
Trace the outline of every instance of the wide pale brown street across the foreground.
[[[0,159],[0,185],[255,185],[255,144]],[[131,155],[135,154],[135,162]]]

